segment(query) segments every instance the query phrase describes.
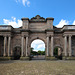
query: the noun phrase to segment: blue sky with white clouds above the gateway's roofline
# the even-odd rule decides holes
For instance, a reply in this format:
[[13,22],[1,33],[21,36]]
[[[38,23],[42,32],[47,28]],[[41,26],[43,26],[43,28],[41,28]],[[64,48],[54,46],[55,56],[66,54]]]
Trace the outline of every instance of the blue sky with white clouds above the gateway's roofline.
[[22,26],[22,17],[53,17],[53,25],[75,25],[75,0],[0,0],[0,25]]

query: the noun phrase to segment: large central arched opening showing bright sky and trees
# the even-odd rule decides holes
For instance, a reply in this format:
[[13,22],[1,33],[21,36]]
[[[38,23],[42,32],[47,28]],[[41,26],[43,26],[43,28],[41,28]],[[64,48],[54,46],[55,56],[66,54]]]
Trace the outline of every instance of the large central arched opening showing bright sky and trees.
[[31,42],[30,58],[32,60],[44,60],[45,59],[45,43],[36,39]]

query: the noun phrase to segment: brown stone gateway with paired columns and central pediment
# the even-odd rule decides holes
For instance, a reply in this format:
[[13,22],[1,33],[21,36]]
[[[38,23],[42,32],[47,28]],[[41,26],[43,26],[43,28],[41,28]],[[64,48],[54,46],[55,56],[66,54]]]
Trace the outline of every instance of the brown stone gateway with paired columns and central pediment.
[[75,25],[57,28],[53,26],[54,18],[45,19],[39,15],[21,20],[20,28],[0,25],[0,60],[29,59],[31,43],[35,39],[44,41],[45,59],[56,59],[55,48],[62,59],[75,59]]

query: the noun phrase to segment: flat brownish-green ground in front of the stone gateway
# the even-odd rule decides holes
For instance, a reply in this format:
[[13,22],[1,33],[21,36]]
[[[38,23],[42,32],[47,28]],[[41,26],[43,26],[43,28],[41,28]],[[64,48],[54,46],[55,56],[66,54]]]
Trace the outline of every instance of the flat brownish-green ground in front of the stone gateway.
[[75,75],[75,61],[0,61],[0,75]]

